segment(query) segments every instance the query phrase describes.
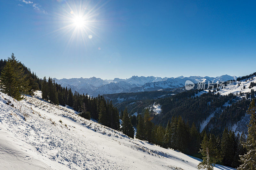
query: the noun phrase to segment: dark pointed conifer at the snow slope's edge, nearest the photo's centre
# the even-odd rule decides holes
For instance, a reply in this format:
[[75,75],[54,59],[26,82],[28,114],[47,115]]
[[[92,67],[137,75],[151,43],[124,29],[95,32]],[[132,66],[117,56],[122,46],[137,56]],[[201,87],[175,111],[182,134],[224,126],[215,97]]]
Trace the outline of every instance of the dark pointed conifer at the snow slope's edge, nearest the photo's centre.
[[122,119],[122,128],[121,131],[123,131],[123,133],[131,138],[134,138],[134,129],[132,127],[132,123],[131,120],[128,116],[128,112],[127,112],[127,108],[124,109],[124,115],[123,115],[123,119]]

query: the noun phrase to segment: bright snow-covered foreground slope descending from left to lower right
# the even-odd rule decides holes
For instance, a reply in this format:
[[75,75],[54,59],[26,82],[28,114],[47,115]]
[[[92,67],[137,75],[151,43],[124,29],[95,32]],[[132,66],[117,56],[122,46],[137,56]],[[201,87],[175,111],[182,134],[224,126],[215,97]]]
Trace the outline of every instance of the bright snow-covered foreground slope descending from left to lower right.
[[199,161],[81,118],[70,108],[45,102],[40,92],[20,102],[0,93],[1,170],[197,169]]

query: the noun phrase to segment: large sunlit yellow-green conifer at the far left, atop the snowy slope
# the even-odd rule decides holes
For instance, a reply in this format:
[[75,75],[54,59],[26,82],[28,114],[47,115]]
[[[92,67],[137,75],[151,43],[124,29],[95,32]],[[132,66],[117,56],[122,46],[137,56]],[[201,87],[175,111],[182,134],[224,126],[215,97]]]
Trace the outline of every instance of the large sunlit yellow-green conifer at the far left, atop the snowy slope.
[[21,95],[28,94],[28,80],[25,80],[24,70],[21,63],[16,60],[12,53],[6,61],[5,67],[2,70],[0,78],[1,91],[12,96],[16,100],[22,100]]

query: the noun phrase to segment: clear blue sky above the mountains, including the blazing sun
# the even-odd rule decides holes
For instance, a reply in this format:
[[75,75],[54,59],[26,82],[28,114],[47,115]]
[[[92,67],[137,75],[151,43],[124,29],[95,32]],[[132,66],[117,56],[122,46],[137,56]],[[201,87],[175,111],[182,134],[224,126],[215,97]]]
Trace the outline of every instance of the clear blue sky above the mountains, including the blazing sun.
[[242,76],[255,1],[0,0],[0,58],[39,77]]

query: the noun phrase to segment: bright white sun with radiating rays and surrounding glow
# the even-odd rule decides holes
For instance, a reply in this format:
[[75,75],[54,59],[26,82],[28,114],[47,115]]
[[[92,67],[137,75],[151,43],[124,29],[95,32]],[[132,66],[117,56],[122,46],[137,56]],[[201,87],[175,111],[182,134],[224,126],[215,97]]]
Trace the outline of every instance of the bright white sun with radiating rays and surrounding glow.
[[62,35],[68,35],[68,43],[75,40],[78,43],[92,43],[94,38],[99,38],[97,31],[102,28],[103,16],[101,8],[105,5],[101,3],[91,4],[91,1],[74,1],[61,6],[56,13],[56,19],[60,27],[51,33],[59,32]]

